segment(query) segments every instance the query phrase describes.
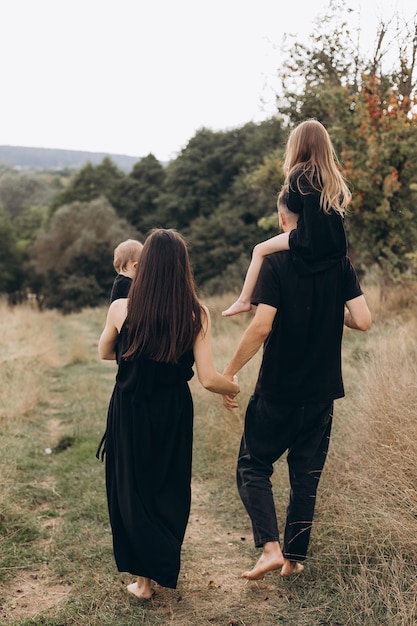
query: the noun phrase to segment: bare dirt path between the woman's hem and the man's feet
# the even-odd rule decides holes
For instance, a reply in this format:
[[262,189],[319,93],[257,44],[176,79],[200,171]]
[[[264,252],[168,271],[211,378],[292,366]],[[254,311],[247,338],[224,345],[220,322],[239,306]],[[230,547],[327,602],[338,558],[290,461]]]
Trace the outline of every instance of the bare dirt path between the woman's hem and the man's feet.
[[157,587],[150,610],[170,614],[166,623],[176,626],[276,624],[281,610],[288,609],[290,588],[279,573],[259,582],[241,578],[254,564],[254,552],[247,548],[252,534],[244,517],[242,528],[244,535],[225,530],[204,484],[194,481],[178,589]]

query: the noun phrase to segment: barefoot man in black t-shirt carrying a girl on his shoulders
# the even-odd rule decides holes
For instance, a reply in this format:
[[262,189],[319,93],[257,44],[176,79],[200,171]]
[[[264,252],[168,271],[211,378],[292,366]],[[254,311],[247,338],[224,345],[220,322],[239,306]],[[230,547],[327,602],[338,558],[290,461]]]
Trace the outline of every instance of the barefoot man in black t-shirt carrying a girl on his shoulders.
[[[297,215],[278,198],[281,228]],[[371,314],[349,259],[319,273],[299,274],[290,251],[267,256],[252,297],[256,314],[224,374],[232,377],[264,345],[254,395],[245,416],[237,484],[262,554],[243,578],[258,580],[281,568],[302,571],[310,540],[315,498],[329,446],[333,401],[344,395],[341,373],[343,324],[368,330]],[[236,401],[223,398],[226,408]],[[283,549],[270,477],[288,450],[290,498]]]

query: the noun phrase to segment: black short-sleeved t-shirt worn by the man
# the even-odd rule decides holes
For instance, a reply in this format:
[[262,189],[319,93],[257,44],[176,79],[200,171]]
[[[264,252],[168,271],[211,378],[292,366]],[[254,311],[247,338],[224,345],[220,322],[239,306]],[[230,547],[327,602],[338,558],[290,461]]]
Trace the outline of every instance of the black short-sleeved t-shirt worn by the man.
[[252,304],[277,309],[256,393],[281,404],[327,402],[344,395],[344,304],[362,294],[348,257],[300,275],[290,251],[265,257]]

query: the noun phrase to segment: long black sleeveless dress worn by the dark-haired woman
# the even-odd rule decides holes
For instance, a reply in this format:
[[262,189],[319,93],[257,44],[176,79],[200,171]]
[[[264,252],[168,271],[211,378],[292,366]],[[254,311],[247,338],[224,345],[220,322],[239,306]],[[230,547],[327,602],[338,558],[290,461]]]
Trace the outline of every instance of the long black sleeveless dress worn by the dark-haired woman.
[[[192,352],[178,364],[120,358],[100,448],[117,568],[175,588],[191,504]],[[100,452],[100,448],[98,454]]]

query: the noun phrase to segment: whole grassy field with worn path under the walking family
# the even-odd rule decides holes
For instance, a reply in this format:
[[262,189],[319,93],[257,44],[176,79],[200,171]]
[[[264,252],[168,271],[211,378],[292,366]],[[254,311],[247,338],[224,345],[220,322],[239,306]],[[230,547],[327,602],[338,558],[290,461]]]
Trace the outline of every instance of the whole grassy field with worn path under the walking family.
[[[240,375],[240,408],[191,386],[193,500],[177,590],[144,603],[117,573],[95,458],[115,365],[97,357],[105,310],[63,317],[0,307],[0,623],[3,626],[412,626],[417,623],[417,322],[410,291],[367,290],[374,325],[345,333],[346,398],[302,575],[245,583],[249,520],[234,472],[260,355]],[[221,318],[210,299],[214,353],[226,364],[248,316]],[[285,459],[274,475],[279,520]]]

